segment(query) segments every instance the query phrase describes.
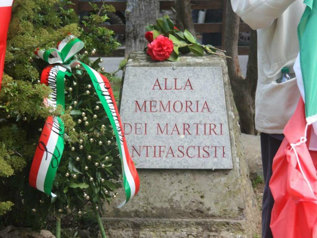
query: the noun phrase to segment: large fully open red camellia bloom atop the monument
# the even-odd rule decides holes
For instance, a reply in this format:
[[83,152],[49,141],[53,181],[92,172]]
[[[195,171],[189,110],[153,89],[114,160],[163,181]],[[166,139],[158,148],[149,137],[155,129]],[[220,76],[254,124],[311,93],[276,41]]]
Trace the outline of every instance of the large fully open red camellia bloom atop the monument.
[[152,60],[164,61],[168,59],[174,49],[173,42],[165,36],[158,36],[151,43],[147,44],[147,54]]

